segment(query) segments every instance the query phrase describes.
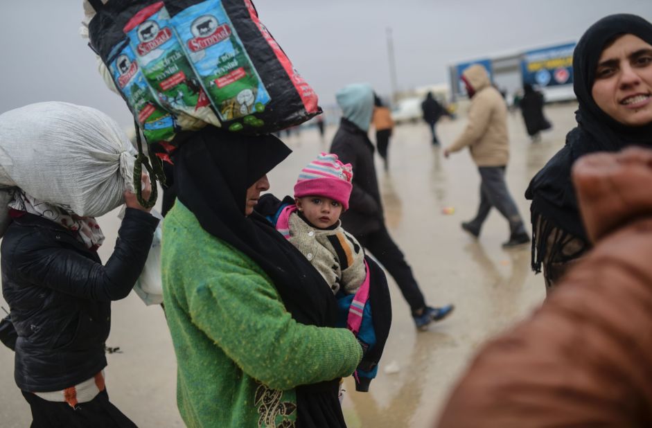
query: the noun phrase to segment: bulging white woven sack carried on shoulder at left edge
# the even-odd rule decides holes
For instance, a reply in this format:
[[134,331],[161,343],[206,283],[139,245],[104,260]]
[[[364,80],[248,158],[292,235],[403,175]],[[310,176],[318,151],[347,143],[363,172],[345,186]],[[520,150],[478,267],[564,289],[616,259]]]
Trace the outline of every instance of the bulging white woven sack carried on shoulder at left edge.
[[0,187],[80,216],[123,204],[134,188],[134,154],[118,124],[91,107],[38,102],[0,114]]

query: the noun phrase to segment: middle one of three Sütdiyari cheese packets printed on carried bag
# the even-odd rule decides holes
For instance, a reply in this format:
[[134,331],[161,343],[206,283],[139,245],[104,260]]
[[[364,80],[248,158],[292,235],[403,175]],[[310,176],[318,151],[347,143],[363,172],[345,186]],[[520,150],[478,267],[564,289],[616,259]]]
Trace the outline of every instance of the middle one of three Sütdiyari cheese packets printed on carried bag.
[[168,111],[220,126],[169,18],[164,3],[159,1],[139,10],[123,28],[143,75]]

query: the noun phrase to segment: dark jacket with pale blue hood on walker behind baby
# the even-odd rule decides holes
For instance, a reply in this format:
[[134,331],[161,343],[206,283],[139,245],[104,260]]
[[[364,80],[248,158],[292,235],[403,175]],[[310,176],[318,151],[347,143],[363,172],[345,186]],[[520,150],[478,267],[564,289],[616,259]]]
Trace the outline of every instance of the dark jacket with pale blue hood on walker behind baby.
[[[373,144],[367,130],[373,112],[373,90],[368,85],[351,84],[337,92],[342,108],[342,123],[337,130],[331,153],[355,171],[349,209],[342,213],[342,227],[354,236],[378,231],[384,226]],[[365,125],[366,123],[366,125]]]

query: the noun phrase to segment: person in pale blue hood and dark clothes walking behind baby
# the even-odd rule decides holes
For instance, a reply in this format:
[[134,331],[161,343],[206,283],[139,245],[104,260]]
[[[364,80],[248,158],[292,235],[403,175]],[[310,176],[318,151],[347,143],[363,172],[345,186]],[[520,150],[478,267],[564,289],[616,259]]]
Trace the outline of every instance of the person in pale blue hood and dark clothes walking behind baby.
[[373,90],[367,84],[350,84],[337,91],[335,97],[343,117],[333,138],[331,153],[337,154],[343,163],[351,163],[355,171],[349,210],[342,214],[342,227],[355,236],[396,280],[412,310],[416,328],[423,330],[432,321],[448,316],[453,306],[426,305],[412,269],[385,226],[378,178],[373,166],[373,145],[367,136],[373,113]]

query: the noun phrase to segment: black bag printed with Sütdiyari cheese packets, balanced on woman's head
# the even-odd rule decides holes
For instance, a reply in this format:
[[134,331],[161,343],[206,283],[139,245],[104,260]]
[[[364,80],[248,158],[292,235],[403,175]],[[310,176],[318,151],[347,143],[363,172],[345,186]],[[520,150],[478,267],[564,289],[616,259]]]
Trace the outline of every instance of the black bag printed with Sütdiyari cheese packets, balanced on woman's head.
[[96,10],[91,48],[109,65],[109,52],[127,33],[159,105],[181,130],[210,123],[268,134],[321,113],[315,91],[250,0],[85,1]]

